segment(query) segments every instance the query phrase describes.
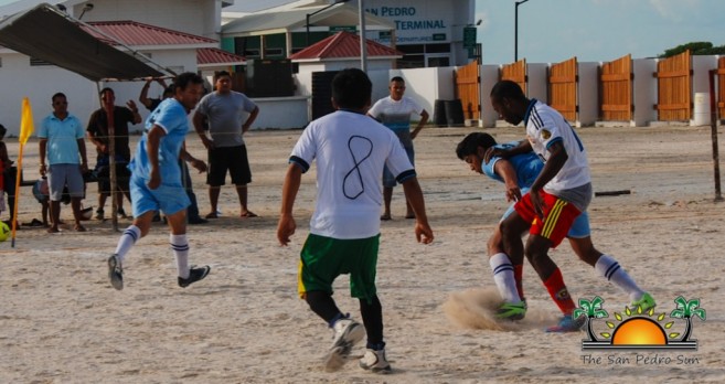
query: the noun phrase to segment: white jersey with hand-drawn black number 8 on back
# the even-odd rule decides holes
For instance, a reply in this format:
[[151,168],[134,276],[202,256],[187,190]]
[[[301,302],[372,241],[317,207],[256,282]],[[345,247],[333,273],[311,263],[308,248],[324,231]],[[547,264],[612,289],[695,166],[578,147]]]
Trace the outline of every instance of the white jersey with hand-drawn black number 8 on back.
[[307,172],[317,160],[317,205],[310,233],[338,239],[380,234],[387,166],[398,181],[415,170],[397,137],[370,116],[338,110],[307,126],[289,161]]

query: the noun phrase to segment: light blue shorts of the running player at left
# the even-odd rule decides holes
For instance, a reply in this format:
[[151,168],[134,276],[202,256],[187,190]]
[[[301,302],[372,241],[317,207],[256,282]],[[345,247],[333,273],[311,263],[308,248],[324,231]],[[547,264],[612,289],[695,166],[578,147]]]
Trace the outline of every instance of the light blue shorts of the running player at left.
[[166,215],[172,215],[185,210],[191,201],[186,191],[181,185],[161,184],[156,190],[149,189],[147,181],[131,174],[131,205],[134,217],[138,217],[149,211],[161,211]]

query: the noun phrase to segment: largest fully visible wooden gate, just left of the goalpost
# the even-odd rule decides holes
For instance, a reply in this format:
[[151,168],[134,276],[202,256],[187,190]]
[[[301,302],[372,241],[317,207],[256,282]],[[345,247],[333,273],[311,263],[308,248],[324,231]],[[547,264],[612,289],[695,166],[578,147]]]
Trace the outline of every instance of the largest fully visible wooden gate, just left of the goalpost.
[[692,61],[690,51],[657,63],[655,106],[660,121],[687,121],[692,118]]

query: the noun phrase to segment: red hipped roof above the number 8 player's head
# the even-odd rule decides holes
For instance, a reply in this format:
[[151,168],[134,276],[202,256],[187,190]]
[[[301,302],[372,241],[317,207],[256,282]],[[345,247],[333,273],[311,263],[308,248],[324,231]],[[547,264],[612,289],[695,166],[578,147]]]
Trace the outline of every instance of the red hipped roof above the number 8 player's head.
[[[390,46],[365,40],[369,57],[399,58],[403,53]],[[311,61],[321,58],[354,58],[360,57],[360,36],[350,32],[338,32],[302,51],[289,56],[292,61]]]

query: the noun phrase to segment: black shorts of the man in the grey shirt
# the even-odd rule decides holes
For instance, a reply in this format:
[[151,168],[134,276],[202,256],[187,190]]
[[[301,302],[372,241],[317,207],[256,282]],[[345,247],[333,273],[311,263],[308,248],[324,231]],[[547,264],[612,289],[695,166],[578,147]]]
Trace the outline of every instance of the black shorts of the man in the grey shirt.
[[232,184],[244,185],[252,182],[246,146],[214,148],[209,151],[206,184],[224,185],[227,170],[232,177]]

